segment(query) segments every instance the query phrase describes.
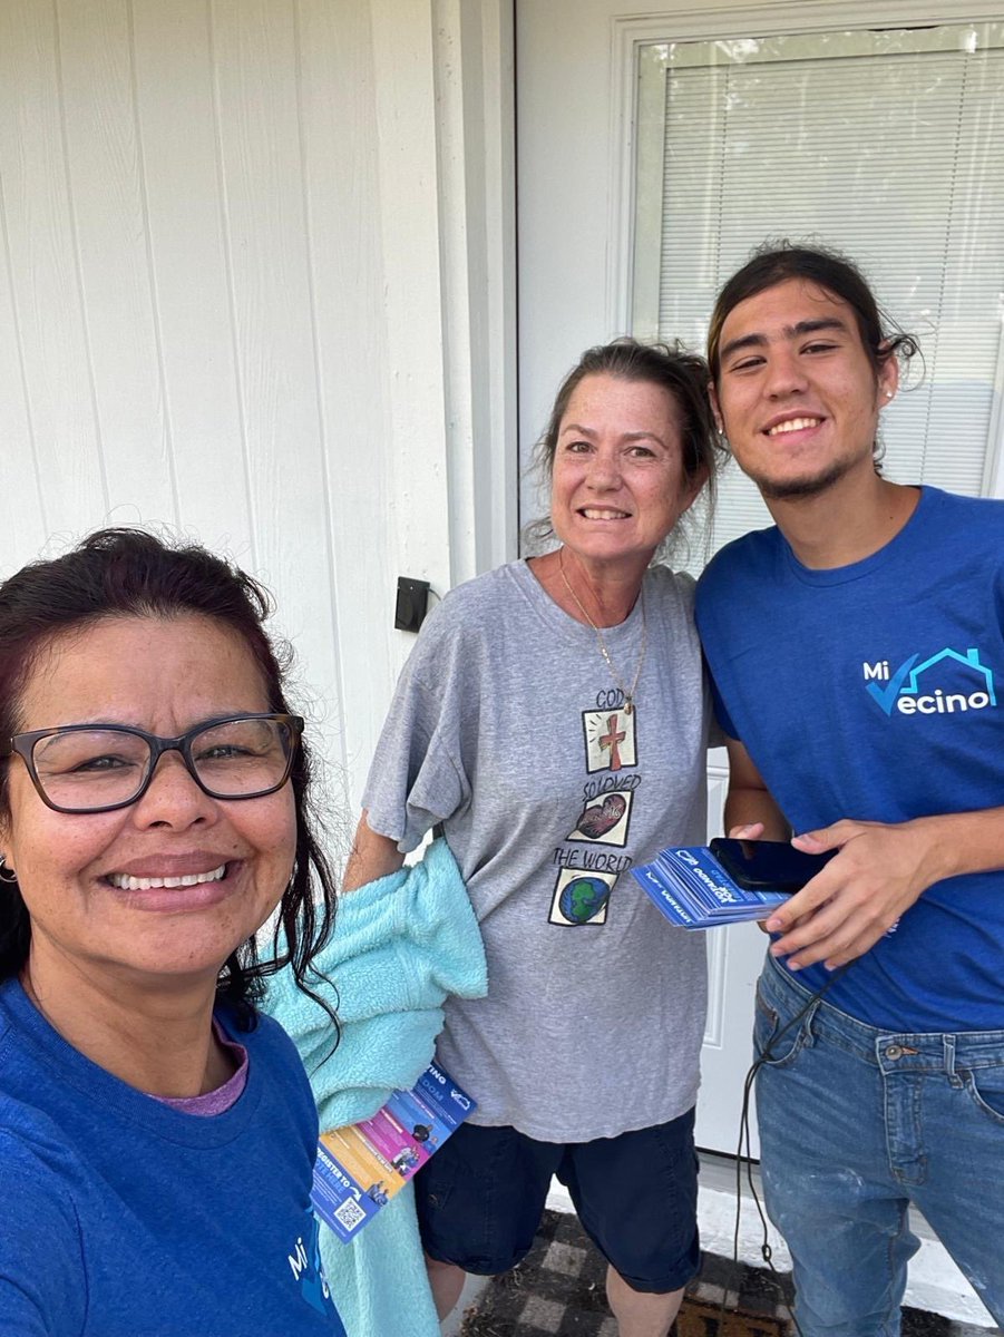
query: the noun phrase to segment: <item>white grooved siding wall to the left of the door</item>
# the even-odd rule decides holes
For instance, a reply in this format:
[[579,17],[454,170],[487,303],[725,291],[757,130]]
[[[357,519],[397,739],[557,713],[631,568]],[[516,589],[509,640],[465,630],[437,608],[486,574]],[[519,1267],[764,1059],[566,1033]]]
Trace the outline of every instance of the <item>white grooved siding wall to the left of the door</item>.
[[0,4],[0,575],[102,524],[226,551],[350,806],[397,575],[515,551],[507,8]]

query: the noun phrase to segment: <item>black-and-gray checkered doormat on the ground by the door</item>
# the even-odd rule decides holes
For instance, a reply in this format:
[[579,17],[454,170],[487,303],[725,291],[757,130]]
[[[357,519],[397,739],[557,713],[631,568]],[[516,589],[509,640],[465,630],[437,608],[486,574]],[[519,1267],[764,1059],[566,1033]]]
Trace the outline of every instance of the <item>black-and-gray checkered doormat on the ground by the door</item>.
[[[547,1211],[528,1257],[485,1288],[467,1313],[460,1337],[618,1337],[604,1273],[603,1259],[576,1218]],[[793,1337],[790,1298],[787,1277],[706,1254],[701,1275],[687,1290],[675,1337]],[[906,1309],[902,1337],[988,1333]]]

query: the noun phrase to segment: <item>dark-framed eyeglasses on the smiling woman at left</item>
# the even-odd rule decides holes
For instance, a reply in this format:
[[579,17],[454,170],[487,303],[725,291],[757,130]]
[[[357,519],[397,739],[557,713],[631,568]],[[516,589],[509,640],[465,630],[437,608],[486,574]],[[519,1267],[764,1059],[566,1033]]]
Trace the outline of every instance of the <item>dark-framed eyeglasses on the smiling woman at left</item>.
[[207,719],[178,738],[130,725],[61,725],[15,734],[0,757],[24,759],[48,808],[57,813],[111,813],[138,802],[166,751],[182,761],[210,798],[262,798],[289,779],[303,721],[250,714]]

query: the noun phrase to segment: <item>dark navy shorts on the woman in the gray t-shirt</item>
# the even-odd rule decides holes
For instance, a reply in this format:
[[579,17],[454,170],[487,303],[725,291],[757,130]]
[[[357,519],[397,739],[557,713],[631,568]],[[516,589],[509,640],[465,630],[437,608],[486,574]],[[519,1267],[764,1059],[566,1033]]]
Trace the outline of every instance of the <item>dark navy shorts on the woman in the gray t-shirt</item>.
[[551,1178],[634,1290],[679,1290],[701,1265],[694,1111],[595,1142],[537,1142],[464,1123],[414,1178],[425,1251],[496,1275],[529,1253]]

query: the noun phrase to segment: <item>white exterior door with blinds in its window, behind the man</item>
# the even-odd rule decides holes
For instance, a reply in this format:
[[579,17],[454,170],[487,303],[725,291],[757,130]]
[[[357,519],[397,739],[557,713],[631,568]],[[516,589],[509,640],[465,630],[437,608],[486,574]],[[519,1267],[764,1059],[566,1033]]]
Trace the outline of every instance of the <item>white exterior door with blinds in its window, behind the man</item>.
[[[701,134],[707,132],[709,118],[726,119],[719,106],[727,106],[729,115],[737,103],[747,111],[753,107],[754,112],[759,106],[766,108],[759,112],[761,124],[783,122],[781,112],[771,116],[765,99],[775,96],[778,90],[783,95],[791,87],[795,67],[801,78],[814,62],[841,96],[848,80],[856,80],[856,87],[874,87],[881,96],[886,72],[885,68],[876,72],[878,60],[892,62],[905,53],[908,59],[901,59],[897,68],[913,71],[925,60],[943,56],[951,60],[953,44],[956,55],[960,47],[972,49],[977,44],[981,56],[987,53],[992,60],[1001,59],[996,27],[992,31],[985,27],[979,29],[979,36],[972,36],[963,27],[969,21],[993,19],[992,5],[920,0],[910,7],[910,24],[928,28],[956,25],[943,36],[940,47],[933,37],[924,36],[920,27],[909,37],[902,33],[876,36],[878,11],[882,8],[889,11],[881,15],[888,19],[889,28],[905,27],[901,7],[892,3],[885,7],[860,4],[857,0],[828,4],[766,0],[759,5],[738,0],[703,5],[666,0],[658,8],[628,5],[626,0],[517,0],[520,459],[524,467],[545,424],[555,386],[584,348],[622,333],[640,337],[659,334],[663,338],[680,336],[699,348],[703,342],[702,322],[715,287],[765,235],[783,233],[797,237],[820,231],[845,246],[856,258],[869,262],[880,279],[896,265],[897,247],[901,251],[902,245],[897,241],[894,226],[877,230],[877,235],[889,245],[889,251],[878,243],[873,245],[870,237],[858,243],[857,233],[850,226],[838,229],[836,235],[832,231],[834,225],[830,219],[841,219],[840,199],[845,194],[849,172],[849,167],[841,167],[836,159],[829,172],[822,172],[824,185],[810,199],[799,197],[795,186],[783,176],[765,174],[751,182],[743,180],[742,175],[730,179],[723,170],[715,180],[707,175],[687,178],[686,172],[693,168],[683,160],[688,160],[691,146]],[[988,39],[993,49],[984,52]],[[834,55],[840,60],[834,60]],[[826,59],[829,68],[824,68]],[[675,103],[670,104],[664,92],[652,98],[644,79],[639,82],[639,70],[644,70],[646,63],[648,67],[652,63],[668,66],[674,60],[683,67],[683,76],[674,86]],[[770,78],[757,78],[754,70],[753,94],[749,91],[753,87],[749,75],[750,66],[757,63],[767,75],[778,70],[781,74],[771,83]],[[730,70],[723,70],[730,64],[737,71],[735,78],[746,78],[747,84],[738,94],[733,91],[731,102],[723,99],[717,106],[711,84],[730,76]],[[702,66],[710,71],[706,84],[697,83],[702,78]],[[852,70],[860,74],[848,74]],[[922,70],[916,79],[922,95],[930,90],[945,95],[948,80],[940,67],[926,82]],[[666,82],[662,87],[667,87]],[[697,95],[693,92],[695,87]],[[686,96],[691,98],[691,103],[683,106],[680,99]],[[884,111],[881,107],[876,111],[874,96],[868,96],[872,98],[870,115],[881,123]],[[761,103],[757,103],[758,98]],[[984,118],[987,106],[985,100],[980,103]],[[1000,103],[995,106],[996,111],[991,115],[1000,116]],[[664,136],[660,132],[658,143],[654,142],[647,130],[652,110],[656,116],[664,115],[667,124],[676,116],[682,128],[676,130],[675,144],[670,144],[668,130]],[[801,108],[791,119],[798,123],[801,138],[810,140],[811,126],[802,118]],[[913,119],[924,120],[916,114],[916,107]],[[964,115],[959,120],[963,123]],[[725,135],[729,127],[722,128],[715,122],[715,135],[719,130]],[[734,131],[737,140],[743,134],[742,126]],[[751,138],[755,136],[742,139],[737,156],[749,151]],[[873,139],[878,140],[881,135],[876,134]],[[969,140],[965,140],[965,147],[972,147]],[[877,148],[880,154],[888,150],[893,158],[900,154],[898,140],[885,146],[877,143]],[[781,152],[787,151],[787,146],[782,144]],[[820,150],[809,151],[820,158]],[[864,154],[853,135],[846,152],[848,162],[857,170]],[[987,187],[984,194],[996,201],[995,209],[1000,207],[1004,197],[996,175],[997,156],[996,152],[988,154],[977,168],[980,185]],[[723,150],[722,158],[727,158],[727,150]],[[910,180],[920,179],[928,197],[936,194],[930,175],[934,167],[928,164],[926,172],[908,167],[897,186],[896,182],[888,185],[892,172],[889,162],[888,156],[880,156],[876,171],[881,172],[888,191],[893,193],[885,207],[894,221],[897,209],[900,214],[902,211],[894,191],[902,194],[910,189]],[[864,189],[861,213],[870,214],[880,206],[868,193],[869,187]],[[836,202],[833,214],[824,209],[828,198]],[[817,209],[820,199],[822,205]],[[742,210],[746,207],[749,222],[745,223]],[[951,255],[952,238],[959,235],[952,230],[959,227],[956,215],[948,218],[948,213],[949,206],[944,223],[948,242],[932,243],[936,263],[944,265],[944,269],[949,269],[951,262],[943,262],[941,257]],[[675,258],[667,247],[667,238],[674,241],[674,237],[683,238],[680,254]],[[734,262],[729,246],[734,250],[741,247]],[[862,254],[862,246],[869,254]],[[961,241],[957,249],[965,250]],[[961,262],[964,255],[959,259]],[[996,275],[997,287],[1001,281],[999,259],[996,253],[988,259],[988,273]],[[905,263],[916,263],[920,269],[922,257],[914,261],[910,254]],[[672,275],[668,297],[667,273]],[[938,271],[934,283],[941,283],[941,278]],[[688,298],[676,299],[676,283],[680,291],[688,289]],[[912,275],[902,278],[904,291],[918,290],[920,286],[920,279]],[[894,429],[898,436],[888,441],[888,463],[900,465],[902,481],[922,479],[959,491],[1004,496],[1004,451],[1000,449],[1004,340],[999,312],[989,302],[987,310],[985,330],[979,337],[969,337],[971,344],[979,344],[987,362],[979,384],[972,378],[972,354],[965,341],[961,341],[960,349],[957,336],[955,340],[948,337],[956,334],[949,310],[940,309],[940,328],[930,308],[922,302],[916,310],[900,313],[918,322],[925,348],[934,349],[928,352],[929,364],[930,360],[937,362],[928,366],[928,382],[918,389],[917,397],[908,400]],[[938,334],[945,336],[941,348]],[[961,354],[957,369],[952,362],[956,354]],[[936,398],[936,392],[944,397]],[[951,414],[947,421],[957,422],[960,405],[965,412],[972,409],[975,413],[973,455],[964,476],[961,465],[951,457],[932,463],[932,452],[926,448],[918,457],[916,445],[918,421],[929,422],[932,413],[944,412]],[[893,469],[888,472],[897,476]],[[714,535],[717,544],[750,527],[769,523],[766,509],[745,480],[729,477],[722,492]],[[537,489],[525,475],[521,512],[524,523],[541,513]],[[709,766],[710,834],[721,832],[725,778],[722,751],[711,757]],[[667,832],[667,840],[670,837]],[[709,933],[707,949],[711,989],[698,1104],[698,1143],[707,1150],[735,1152],[742,1083],[750,1063],[753,991],[763,957],[763,939],[755,927],[743,925]],[[755,1128],[753,1148],[755,1154]]]

